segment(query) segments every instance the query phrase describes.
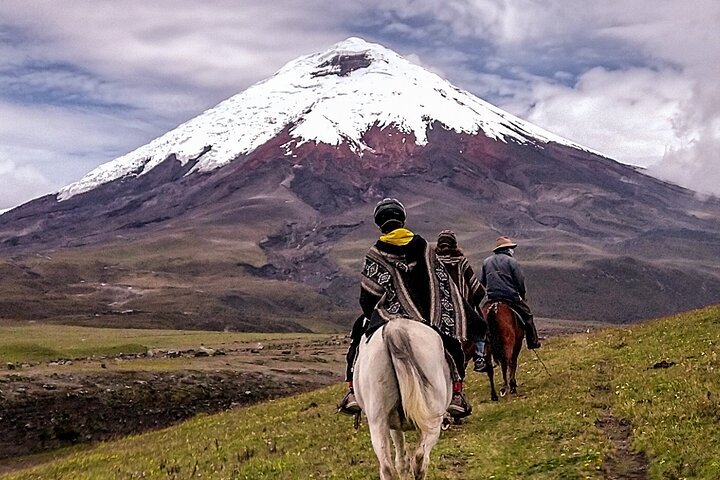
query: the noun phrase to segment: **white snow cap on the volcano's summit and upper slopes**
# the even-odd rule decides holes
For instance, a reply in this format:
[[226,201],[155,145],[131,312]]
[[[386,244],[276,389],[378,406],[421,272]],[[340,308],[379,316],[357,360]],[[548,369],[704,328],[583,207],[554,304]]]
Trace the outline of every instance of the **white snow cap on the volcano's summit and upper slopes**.
[[454,87],[381,45],[349,38],[288,63],[271,78],[99,166],[62,188],[58,199],[145,174],[171,154],[183,164],[199,158],[188,174],[210,171],[254,151],[288,127],[288,154],[305,142],[346,143],[362,154],[369,149],[363,134],[374,125],[393,125],[423,145],[434,122],[504,142],[556,142],[588,150]]

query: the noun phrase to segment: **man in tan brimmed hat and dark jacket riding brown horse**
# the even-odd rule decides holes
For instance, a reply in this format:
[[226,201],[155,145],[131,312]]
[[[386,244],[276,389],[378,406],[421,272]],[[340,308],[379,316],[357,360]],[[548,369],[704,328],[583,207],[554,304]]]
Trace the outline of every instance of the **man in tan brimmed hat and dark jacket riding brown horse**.
[[527,347],[540,348],[533,314],[525,302],[525,276],[513,257],[515,247],[517,244],[509,237],[498,237],[495,240],[493,255],[483,262],[480,283],[487,291],[488,301],[501,300],[522,317]]

